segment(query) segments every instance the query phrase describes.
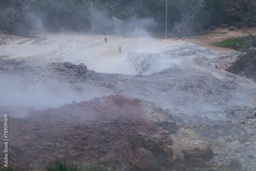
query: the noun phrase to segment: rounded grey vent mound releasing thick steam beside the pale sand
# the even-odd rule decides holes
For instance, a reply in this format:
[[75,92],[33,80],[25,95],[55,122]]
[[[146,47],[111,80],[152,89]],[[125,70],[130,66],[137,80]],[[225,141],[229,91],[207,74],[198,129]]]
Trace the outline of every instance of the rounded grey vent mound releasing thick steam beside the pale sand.
[[131,65],[133,75],[147,75],[155,72],[159,58],[161,58],[159,53],[142,53],[133,50],[128,53],[126,60]]

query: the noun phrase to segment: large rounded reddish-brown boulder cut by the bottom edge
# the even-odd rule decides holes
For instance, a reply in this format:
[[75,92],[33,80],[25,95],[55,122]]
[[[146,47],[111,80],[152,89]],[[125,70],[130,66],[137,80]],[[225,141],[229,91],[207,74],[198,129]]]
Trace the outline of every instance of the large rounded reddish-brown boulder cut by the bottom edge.
[[126,157],[127,166],[138,171],[160,171],[161,165],[155,155],[146,148],[134,148]]

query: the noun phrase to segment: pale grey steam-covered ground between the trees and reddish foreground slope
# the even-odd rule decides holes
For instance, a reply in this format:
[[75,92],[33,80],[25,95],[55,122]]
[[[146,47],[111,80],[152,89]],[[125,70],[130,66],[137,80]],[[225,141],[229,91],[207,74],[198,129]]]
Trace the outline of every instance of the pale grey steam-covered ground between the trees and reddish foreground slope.
[[[211,52],[175,39],[83,33],[38,35],[0,47],[6,56],[2,57],[3,65],[8,66],[2,72],[2,78],[8,80],[2,79],[6,86],[1,93],[7,97],[1,100],[2,105],[56,108],[73,100],[122,94],[182,113],[207,116],[209,111],[219,111],[216,116],[208,116],[219,118],[224,117],[224,108],[253,104],[256,97],[255,83],[216,69],[224,66],[219,58],[239,56],[236,52]],[[52,62],[84,63],[89,71],[82,76],[78,66],[52,66]],[[6,76],[6,72],[18,74],[15,78]],[[8,96],[9,92],[13,94]]]

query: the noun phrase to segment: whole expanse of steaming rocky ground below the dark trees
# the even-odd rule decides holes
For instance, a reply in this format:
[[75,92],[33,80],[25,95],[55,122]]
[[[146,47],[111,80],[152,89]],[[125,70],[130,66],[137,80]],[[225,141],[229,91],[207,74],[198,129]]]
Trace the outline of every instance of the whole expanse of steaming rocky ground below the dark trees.
[[[240,53],[209,51],[182,41],[170,46],[167,40],[159,51],[133,50],[134,39],[128,38],[132,52],[124,51],[119,58],[113,54],[106,62],[101,55],[114,53],[109,42],[110,48],[84,60],[76,58],[73,64],[63,62],[63,57],[70,59],[90,48],[96,51],[104,44],[77,40],[74,53],[59,56],[59,49],[54,50],[57,36],[45,37],[17,37],[1,45],[6,49],[0,60],[5,97],[0,111],[9,113],[10,163],[16,168],[45,170],[57,157],[81,168],[96,164],[140,171],[154,163],[156,167],[144,170],[255,170],[256,84],[222,70]],[[73,45],[73,39],[66,40]],[[13,47],[39,49],[11,54]],[[52,49],[42,53],[47,47]],[[116,66],[112,58],[125,65]],[[106,71],[123,70],[95,72],[90,59]],[[156,149],[146,143],[133,145],[134,141],[151,142]],[[129,167],[127,155],[140,152],[152,160]]]

